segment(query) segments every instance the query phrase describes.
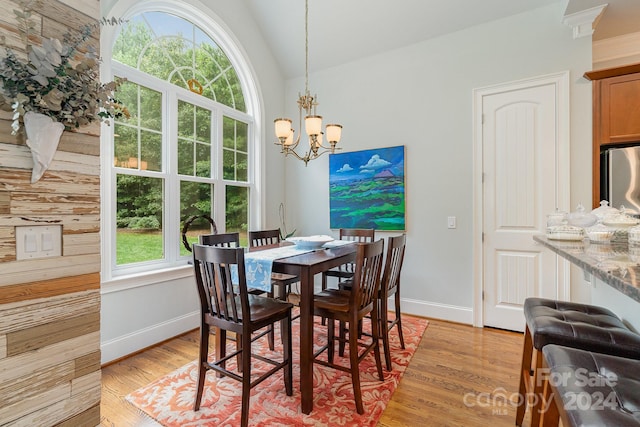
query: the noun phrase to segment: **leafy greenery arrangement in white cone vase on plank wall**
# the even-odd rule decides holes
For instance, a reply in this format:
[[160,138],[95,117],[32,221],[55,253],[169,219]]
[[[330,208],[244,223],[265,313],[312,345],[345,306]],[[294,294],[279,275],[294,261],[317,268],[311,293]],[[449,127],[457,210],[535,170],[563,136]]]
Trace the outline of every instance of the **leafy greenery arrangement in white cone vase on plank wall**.
[[[62,41],[42,39],[42,45],[34,45],[31,40],[38,39],[38,35],[34,34],[34,22],[40,17],[33,14],[42,4],[38,0],[18,0],[16,3],[20,9],[14,10],[14,14],[25,49],[14,51],[6,47],[4,56],[0,58],[0,108],[13,112],[12,135],[20,132],[22,123],[27,127],[27,121],[32,124],[44,123],[41,116],[61,125],[62,130],[112,117],[128,117],[127,108],[114,98],[114,91],[121,81],[100,81],[100,61],[87,43],[99,24],[85,26],[79,32],[69,32]],[[27,119],[29,113],[39,116],[30,115]],[[61,133],[57,125],[49,127],[55,127],[56,133]],[[29,127],[33,129],[33,126]],[[35,182],[34,178],[37,181],[48,167],[60,137],[58,135],[54,140],[51,134],[45,140],[36,142],[34,132],[42,133],[40,130],[27,129],[27,145],[32,150],[38,150],[37,155],[34,153],[33,156],[34,163],[37,158],[38,164],[34,164],[32,182]],[[43,161],[43,154],[49,152],[51,155],[46,156],[50,157],[49,161]]]

